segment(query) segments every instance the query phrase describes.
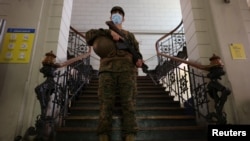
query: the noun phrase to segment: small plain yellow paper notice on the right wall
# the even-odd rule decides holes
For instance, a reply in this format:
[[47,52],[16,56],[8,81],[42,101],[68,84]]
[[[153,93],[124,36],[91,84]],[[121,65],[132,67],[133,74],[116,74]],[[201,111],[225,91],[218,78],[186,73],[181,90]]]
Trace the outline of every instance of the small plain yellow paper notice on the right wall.
[[246,59],[244,46],[239,43],[230,44],[230,51],[233,59]]

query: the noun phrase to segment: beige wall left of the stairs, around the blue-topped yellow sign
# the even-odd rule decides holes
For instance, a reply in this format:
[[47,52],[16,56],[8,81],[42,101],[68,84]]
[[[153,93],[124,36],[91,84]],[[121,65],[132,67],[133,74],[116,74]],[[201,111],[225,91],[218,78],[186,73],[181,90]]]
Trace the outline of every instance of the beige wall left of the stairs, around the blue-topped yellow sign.
[[13,141],[34,126],[40,114],[34,88],[44,81],[39,72],[41,61],[51,50],[57,62],[66,60],[71,11],[72,0],[0,1],[0,18],[6,19],[6,29],[35,29],[30,62],[0,64],[0,141]]

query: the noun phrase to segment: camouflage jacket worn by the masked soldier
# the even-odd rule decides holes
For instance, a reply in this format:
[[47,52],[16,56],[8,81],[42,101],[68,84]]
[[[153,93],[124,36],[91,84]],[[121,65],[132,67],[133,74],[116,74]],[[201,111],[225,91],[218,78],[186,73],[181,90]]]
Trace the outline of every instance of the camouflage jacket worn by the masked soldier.
[[[134,49],[141,55],[139,51],[139,43],[136,40],[133,33],[122,30],[123,33],[127,36],[127,39],[130,40]],[[91,29],[86,32],[86,41],[89,46],[92,46],[95,40],[100,36],[106,36],[112,39],[111,32],[109,29]],[[113,40],[113,39],[112,39]],[[115,41],[114,41],[115,42]],[[99,72],[137,72],[135,63],[133,62],[132,54],[127,50],[121,50],[117,47],[112,53],[105,58],[101,58]]]

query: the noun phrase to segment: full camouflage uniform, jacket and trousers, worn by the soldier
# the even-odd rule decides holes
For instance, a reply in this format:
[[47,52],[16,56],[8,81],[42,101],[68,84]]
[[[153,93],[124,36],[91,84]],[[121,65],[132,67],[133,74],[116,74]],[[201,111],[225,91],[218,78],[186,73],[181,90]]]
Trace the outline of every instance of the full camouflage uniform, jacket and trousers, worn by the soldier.
[[[125,30],[122,30],[122,32],[127,35],[135,50],[140,54],[139,45],[134,34]],[[110,30],[91,29],[86,33],[88,45],[92,46],[100,36],[106,36],[113,40]],[[102,52],[98,53],[102,54]],[[138,130],[135,116],[137,68],[133,62],[132,55],[127,50],[120,50],[115,47],[108,54],[100,56],[102,56],[100,57],[98,88],[100,115],[97,132],[98,134],[107,135],[111,133],[115,97],[119,94],[123,113],[123,132],[124,134],[136,134]]]

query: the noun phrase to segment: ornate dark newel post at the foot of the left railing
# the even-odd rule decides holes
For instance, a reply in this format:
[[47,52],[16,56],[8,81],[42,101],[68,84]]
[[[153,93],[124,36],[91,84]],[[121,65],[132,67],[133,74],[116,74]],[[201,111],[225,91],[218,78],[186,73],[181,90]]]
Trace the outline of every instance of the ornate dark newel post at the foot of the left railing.
[[56,56],[53,52],[51,51],[45,55],[46,57],[42,62],[43,67],[40,69],[40,72],[43,73],[46,80],[35,88],[41,108],[41,115],[37,117],[35,125],[36,139],[38,140],[48,140],[51,134],[48,128],[50,128],[49,124],[53,124],[53,117],[47,116],[47,110],[50,96],[55,92],[56,82],[54,77],[55,71],[58,68],[58,65],[54,63]]

